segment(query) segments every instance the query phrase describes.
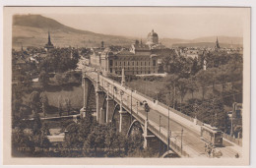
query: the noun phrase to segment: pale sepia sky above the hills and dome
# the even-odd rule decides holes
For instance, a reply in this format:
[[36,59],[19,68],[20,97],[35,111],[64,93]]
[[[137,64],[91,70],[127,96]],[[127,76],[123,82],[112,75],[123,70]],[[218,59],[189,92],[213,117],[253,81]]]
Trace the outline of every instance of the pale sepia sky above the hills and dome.
[[71,28],[104,34],[146,37],[154,29],[160,38],[243,36],[243,8],[70,7],[39,11],[31,14],[37,12]]

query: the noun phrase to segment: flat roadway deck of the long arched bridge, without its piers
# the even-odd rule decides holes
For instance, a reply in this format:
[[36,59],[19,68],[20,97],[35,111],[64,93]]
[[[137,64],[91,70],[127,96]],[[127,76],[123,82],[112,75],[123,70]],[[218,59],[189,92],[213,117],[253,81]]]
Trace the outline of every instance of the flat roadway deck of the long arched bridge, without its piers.
[[[133,91],[129,87],[122,86],[121,84],[115,83],[101,75],[97,77],[96,72],[87,71],[86,76],[93,82],[98,80],[100,89],[108,92],[108,95],[111,98],[114,98],[116,102],[120,103],[122,101],[123,108],[131,113],[142,124],[144,124],[147,114],[143,106],[140,104],[146,100],[150,106],[150,112],[148,113],[148,129],[165,144],[167,144],[168,110],[165,107],[147,98],[146,96],[143,96],[143,94]],[[121,90],[123,91],[123,95],[120,94]],[[196,125],[189,118],[184,118],[177,115],[177,113],[171,109],[169,116],[169,125],[171,130],[170,147],[181,156],[206,157],[205,141],[200,139],[200,126]],[[182,129],[183,135],[181,142]],[[226,156],[234,156],[236,152],[230,149],[224,149],[222,151]]]

